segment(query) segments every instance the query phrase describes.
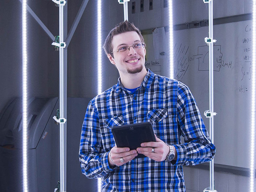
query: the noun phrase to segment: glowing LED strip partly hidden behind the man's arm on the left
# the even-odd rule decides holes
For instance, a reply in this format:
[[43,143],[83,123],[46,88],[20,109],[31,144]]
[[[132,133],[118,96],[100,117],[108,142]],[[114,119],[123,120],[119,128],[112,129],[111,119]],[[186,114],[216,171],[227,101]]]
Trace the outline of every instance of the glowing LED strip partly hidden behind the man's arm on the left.
[[[101,0],[97,1],[97,54],[98,54],[98,94],[102,92],[102,86],[101,86],[101,55],[102,55],[102,46],[101,46]],[[97,182],[98,186],[98,192],[101,192],[101,179],[98,179]]]

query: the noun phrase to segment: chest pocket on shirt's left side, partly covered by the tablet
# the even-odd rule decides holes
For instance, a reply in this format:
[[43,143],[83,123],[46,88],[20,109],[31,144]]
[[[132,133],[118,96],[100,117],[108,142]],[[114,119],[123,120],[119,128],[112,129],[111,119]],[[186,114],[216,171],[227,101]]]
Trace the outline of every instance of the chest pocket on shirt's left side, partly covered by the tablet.
[[106,149],[111,149],[115,146],[115,140],[111,131],[114,126],[120,126],[124,124],[123,116],[114,116],[104,120],[104,127],[101,129],[102,143]]

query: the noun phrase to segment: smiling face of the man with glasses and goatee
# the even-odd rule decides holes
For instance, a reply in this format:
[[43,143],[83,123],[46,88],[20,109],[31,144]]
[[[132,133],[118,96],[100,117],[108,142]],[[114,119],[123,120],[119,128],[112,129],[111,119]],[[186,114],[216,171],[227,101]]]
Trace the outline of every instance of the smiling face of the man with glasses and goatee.
[[144,67],[146,55],[144,46],[141,46],[140,49],[130,47],[130,50],[125,52],[116,52],[121,47],[132,46],[135,43],[141,43],[139,35],[135,31],[117,34],[112,39],[114,58],[110,54],[108,54],[108,58],[117,67],[120,75],[136,74],[141,72]]

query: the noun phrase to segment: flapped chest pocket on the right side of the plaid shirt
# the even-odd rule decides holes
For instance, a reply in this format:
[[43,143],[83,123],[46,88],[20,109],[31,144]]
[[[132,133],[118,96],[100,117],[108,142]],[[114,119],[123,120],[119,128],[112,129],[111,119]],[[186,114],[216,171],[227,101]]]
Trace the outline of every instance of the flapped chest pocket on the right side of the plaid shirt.
[[147,113],[147,119],[152,122],[154,133],[161,140],[164,140],[167,119],[166,117],[168,117],[168,110],[166,108],[153,109]]

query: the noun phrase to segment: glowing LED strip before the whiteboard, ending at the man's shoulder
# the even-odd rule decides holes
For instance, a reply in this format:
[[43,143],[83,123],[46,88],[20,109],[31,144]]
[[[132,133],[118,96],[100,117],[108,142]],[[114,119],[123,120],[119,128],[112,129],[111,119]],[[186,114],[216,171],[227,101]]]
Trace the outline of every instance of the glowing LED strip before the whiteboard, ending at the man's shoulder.
[[170,50],[170,78],[174,77],[173,66],[173,14],[172,14],[172,0],[169,0],[169,50]]

